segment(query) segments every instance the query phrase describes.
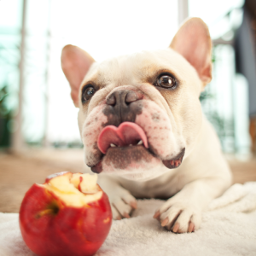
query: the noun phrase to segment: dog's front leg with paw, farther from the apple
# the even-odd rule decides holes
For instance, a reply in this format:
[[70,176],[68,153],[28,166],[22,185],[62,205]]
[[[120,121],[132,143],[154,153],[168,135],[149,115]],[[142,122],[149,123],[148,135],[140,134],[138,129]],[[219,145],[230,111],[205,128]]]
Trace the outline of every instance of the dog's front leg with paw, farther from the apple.
[[201,224],[201,212],[212,199],[227,189],[224,179],[206,177],[186,184],[155,213],[166,230],[175,233],[192,232]]

